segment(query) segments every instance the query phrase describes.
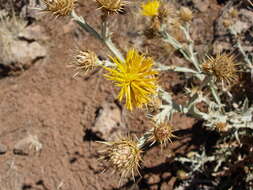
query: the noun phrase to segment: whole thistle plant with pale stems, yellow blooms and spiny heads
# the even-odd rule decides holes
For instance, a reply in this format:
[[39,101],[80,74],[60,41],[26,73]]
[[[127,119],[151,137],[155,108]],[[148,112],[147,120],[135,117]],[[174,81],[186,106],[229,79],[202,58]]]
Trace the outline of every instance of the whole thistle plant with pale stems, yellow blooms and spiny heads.
[[[139,14],[147,17],[150,25],[155,30],[157,36],[165,43],[172,46],[175,51],[181,53],[189,67],[181,67],[155,62],[148,55],[139,53],[132,48],[126,50],[126,56],[112,42],[108,27],[108,15],[121,12],[128,5],[123,0],[97,0],[98,8],[104,16],[101,19],[101,32],[87,23],[85,18],[75,12],[75,0],[53,0],[46,1],[47,12],[55,16],[70,16],[82,29],[100,41],[112,56],[107,60],[99,60],[96,54],[90,50],[80,51],[74,57],[71,64],[76,70],[76,74],[87,72],[94,67],[104,69],[104,77],[114,83],[119,90],[118,99],[125,104],[126,109],[143,110],[147,119],[154,123],[154,127],[143,136],[133,141],[129,137],[120,137],[113,142],[102,142],[106,145],[102,153],[102,159],[107,161],[111,168],[114,168],[122,177],[138,174],[141,167],[142,155],[152,144],[166,145],[176,139],[176,128],[170,123],[173,121],[175,113],[181,113],[189,117],[203,121],[203,127],[208,130],[217,131],[221,135],[219,143],[237,142],[242,145],[241,135],[250,134],[245,130],[253,130],[252,113],[253,107],[250,101],[244,97],[239,102],[229,102],[224,97],[233,99],[231,88],[238,83],[240,73],[253,73],[252,60],[246,55],[241,43],[237,42],[237,47],[243,60],[238,60],[238,55],[234,53],[220,52],[217,55],[198,55],[195,51],[195,44],[190,34],[191,20],[194,13],[187,7],[181,7],[178,11],[167,6],[166,2],[150,0],[140,4]],[[94,10],[99,11],[99,10]],[[233,11],[231,14],[236,15]],[[173,20],[173,25],[172,21]],[[169,28],[177,27],[184,35],[185,42],[182,43]],[[233,26],[229,28],[232,35],[237,35]],[[145,34],[143,31],[142,34]],[[205,59],[200,59],[205,57]],[[246,63],[246,65],[245,65]],[[194,79],[196,86],[185,88],[187,100],[184,104],[177,103],[172,97],[172,93],[165,91],[159,86],[157,75],[161,72],[179,72],[188,78]],[[207,106],[207,110],[201,111],[198,104]],[[222,136],[226,132],[229,136]],[[217,164],[214,172],[217,172],[224,161],[229,158],[222,158],[231,155],[229,148],[217,150],[215,155],[207,156],[205,151],[196,153],[196,156],[189,158],[176,158],[184,163],[191,163],[192,173],[201,170],[207,162]],[[249,150],[252,153],[252,148]],[[189,176],[189,175],[188,175]]]

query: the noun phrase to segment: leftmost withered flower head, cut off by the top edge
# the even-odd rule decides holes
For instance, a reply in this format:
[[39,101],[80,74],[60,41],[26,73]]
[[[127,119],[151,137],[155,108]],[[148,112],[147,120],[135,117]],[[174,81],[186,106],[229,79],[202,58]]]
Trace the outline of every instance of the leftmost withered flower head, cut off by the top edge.
[[55,16],[67,16],[75,8],[77,0],[42,0],[46,5],[43,11],[51,12]]

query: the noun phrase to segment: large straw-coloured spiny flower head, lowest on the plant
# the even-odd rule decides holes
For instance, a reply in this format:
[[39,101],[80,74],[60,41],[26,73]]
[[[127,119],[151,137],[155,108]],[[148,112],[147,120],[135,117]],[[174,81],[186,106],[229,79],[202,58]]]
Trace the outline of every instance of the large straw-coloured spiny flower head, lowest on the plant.
[[102,159],[109,162],[110,167],[127,177],[139,173],[138,168],[141,162],[141,150],[137,143],[129,137],[119,138],[114,142],[100,142],[107,147],[102,152]]

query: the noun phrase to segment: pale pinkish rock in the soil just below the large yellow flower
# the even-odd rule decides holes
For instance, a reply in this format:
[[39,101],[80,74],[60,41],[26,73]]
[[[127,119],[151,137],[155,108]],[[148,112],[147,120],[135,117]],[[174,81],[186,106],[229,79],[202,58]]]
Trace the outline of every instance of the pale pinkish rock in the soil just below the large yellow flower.
[[122,132],[125,125],[122,122],[121,110],[114,103],[104,103],[98,110],[92,132],[103,139],[110,139],[113,135]]

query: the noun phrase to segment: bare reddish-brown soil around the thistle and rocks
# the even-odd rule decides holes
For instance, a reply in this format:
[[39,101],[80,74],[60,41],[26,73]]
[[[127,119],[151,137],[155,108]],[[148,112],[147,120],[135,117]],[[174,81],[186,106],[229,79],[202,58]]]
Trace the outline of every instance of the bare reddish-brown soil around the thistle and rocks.
[[[215,1],[211,5],[214,8],[210,8],[205,13],[208,16],[202,20],[207,26],[211,26],[218,10]],[[89,12],[94,8],[92,6],[82,10],[83,15],[95,24],[94,20],[99,16],[94,18],[94,13]],[[124,20],[124,15],[119,17]],[[142,178],[137,177],[136,183],[130,179],[119,185],[119,175],[103,172],[104,167],[97,160],[100,149],[95,142],[97,138],[85,133],[92,128],[97,109],[104,102],[115,101],[115,90],[103,79],[101,70],[75,80],[73,71],[67,68],[69,55],[76,44],[104,57],[108,52],[68,19],[52,20],[43,16],[36,24],[42,25],[48,36],[49,40],[45,42],[48,57],[20,76],[0,80],[0,142],[8,147],[7,153],[0,155],[0,189],[172,189],[176,169],[170,165],[171,158],[190,148],[184,143],[191,140],[191,135],[179,137],[163,151],[160,147],[152,148],[144,156]],[[207,35],[209,41],[212,40],[212,34]],[[124,48],[124,35],[117,37],[116,41]],[[169,73],[164,77],[167,77],[164,81],[170,79],[170,82],[164,82],[168,89],[181,83],[178,75]],[[127,113],[125,121],[130,133],[137,136],[149,128],[141,112]],[[193,124],[193,119],[184,116],[174,118],[176,130],[189,129]],[[15,146],[29,135],[38,137],[42,149],[38,152],[28,149],[24,155],[14,154]]]

